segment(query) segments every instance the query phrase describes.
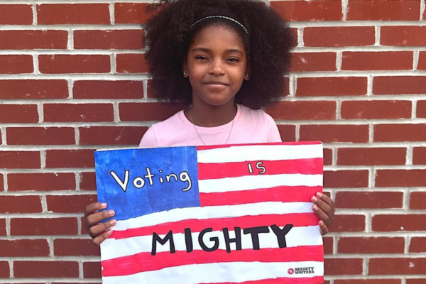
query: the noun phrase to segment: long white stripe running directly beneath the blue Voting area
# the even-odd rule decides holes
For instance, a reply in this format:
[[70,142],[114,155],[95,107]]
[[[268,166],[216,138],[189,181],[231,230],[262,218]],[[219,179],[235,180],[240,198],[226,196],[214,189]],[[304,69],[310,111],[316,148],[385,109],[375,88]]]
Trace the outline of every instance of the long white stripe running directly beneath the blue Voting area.
[[188,207],[155,212],[136,218],[118,221],[111,229],[121,231],[187,219],[217,219],[226,217],[256,216],[263,214],[312,213],[312,202],[258,202],[251,204]]

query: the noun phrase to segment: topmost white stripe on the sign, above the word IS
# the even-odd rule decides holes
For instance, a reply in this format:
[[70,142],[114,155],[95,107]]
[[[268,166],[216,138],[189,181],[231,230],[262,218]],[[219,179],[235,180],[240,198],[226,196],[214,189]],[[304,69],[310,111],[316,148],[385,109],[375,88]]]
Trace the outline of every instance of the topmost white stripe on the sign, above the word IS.
[[230,163],[246,160],[297,160],[322,158],[322,144],[253,145],[198,150],[198,163]]

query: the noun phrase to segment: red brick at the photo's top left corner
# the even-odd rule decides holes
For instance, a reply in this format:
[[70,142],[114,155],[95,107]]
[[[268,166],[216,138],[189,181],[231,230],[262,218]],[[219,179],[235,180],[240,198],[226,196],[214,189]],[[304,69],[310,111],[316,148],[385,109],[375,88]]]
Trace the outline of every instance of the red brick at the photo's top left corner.
[[32,25],[31,5],[4,5],[0,7],[0,25]]

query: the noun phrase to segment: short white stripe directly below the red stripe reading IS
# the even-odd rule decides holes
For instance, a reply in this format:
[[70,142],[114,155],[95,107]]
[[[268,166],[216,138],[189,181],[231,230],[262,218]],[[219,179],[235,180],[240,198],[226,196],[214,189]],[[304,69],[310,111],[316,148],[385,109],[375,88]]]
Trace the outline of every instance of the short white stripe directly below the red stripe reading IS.
[[256,190],[277,186],[322,186],[322,175],[246,175],[238,178],[199,180],[198,190],[202,193]]

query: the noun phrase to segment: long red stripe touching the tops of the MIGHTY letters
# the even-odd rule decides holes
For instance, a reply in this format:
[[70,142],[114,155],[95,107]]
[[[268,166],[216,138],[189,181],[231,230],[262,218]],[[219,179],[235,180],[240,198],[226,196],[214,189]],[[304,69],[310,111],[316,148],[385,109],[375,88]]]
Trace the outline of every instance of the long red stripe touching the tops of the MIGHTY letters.
[[[285,205],[283,205],[285,206]],[[254,226],[316,226],[318,217],[312,213],[298,214],[264,214],[256,216],[243,216],[234,218],[218,219],[187,219],[178,222],[158,224],[155,226],[145,226],[142,228],[127,229],[125,231],[113,231],[110,239],[126,239],[134,236],[152,236],[153,233],[168,234],[171,230],[173,234],[183,233],[185,228],[191,228],[192,232],[200,232],[206,228],[212,228],[213,231],[222,231],[222,228],[233,230],[234,227],[251,228]]]

